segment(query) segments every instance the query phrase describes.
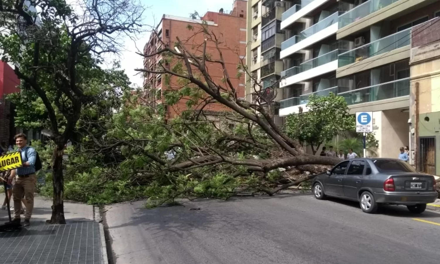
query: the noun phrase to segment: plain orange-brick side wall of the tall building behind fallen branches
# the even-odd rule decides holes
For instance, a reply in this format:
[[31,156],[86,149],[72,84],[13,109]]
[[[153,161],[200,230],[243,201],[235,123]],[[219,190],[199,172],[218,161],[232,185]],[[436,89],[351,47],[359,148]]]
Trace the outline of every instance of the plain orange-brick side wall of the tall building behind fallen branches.
[[[222,52],[222,56],[225,61],[226,70],[231,78],[231,83],[237,91],[237,96],[244,98],[245,96],[245,73],[242,73],[240,78],[237,75],[237,64],[240,63],[240,56],[246,54],[246,1],[236,0],[234,3],[234,11],[231,13],[217,13],[208,12],[204,15],[204,19],[207,21],[213,21],[216,25],[209,26],[209,31],[219,38],[219,48]],[[225,10],[226,12],[226,10]],[[242,14],[242,15],[240,15]],[[194,27],[193,30],[188,29],[188,24]],[[187,21],[180,21],[174,19],[162,19],[162,32],[169,30],[169,37],[163,34],[163,41],[170,43],[170,46],[174,46],[176,38],[179,37],[185,43],[185,47],[196,54],[202,53],[202,44],[206,38],[203,33],[198,33],[201,26],[197,23],[191,23]],[[219,52],[216,50],[215,44],[211,41],[207,42],[206,52],[209,53],[213,59],[220,59]],[[246,63],[246,62],[244,62]],[[172,69],[173,63],[170,64]],[[224,84],[222,79],[224,78],[224,71],[221,69],[220,64],[207,63],[209,75],[212,77],[216,84],[227,88],[227,84]],[[194,73],[196,74],[196,73]],[[165,78],[162,77],[162,96],[163,91],[166,89],[164,84]],[[177,77],[170,78],[170,88],[180,89],[182,88],[181,82]],[[167,107],[167,113],[165,115],[169,118],[179,115],[182,111],[188,110],[186,102],[188,99],[181,99],[177,104]],[[162,101],[165,100],[162,98]],[[200,106],[193,107],[194,109],[200,109]],[[210,104],[203,110],[207,111],[225,111],[228,110],[225,106],[219,103]]]

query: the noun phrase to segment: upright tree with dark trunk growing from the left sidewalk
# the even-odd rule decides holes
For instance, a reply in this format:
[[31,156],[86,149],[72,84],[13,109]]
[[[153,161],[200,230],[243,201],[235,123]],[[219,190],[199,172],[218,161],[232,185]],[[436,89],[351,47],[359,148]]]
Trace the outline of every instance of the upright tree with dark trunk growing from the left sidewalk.
[[64,0],[0,2],[0,27],[6,29],[0,35],[2,60],[15,65],[21,100],[29,102],[21,111],[42,103],[55,144],[51,224],[66,223],[62,155],[77,134],[84,107],[95,102],[103,86],[121,85],[100,68],[101,56],[117,53],[125,34],[141,30],[144,10],[131,0],[84,0],[76,7],[81,14]]

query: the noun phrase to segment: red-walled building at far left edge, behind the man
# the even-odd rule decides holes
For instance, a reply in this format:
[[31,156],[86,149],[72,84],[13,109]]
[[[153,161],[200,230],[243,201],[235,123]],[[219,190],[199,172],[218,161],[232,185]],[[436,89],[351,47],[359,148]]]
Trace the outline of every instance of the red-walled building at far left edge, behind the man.
[[20,80],[6,62],[0,62],[0,142],[9,143],[15,135],[14,109],[5,97],[19,92]]

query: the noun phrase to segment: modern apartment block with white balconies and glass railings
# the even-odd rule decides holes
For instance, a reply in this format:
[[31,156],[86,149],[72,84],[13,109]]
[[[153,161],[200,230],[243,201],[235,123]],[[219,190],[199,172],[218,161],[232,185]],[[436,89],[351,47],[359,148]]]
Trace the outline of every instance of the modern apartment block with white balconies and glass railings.
[[280,116],[299,107],[307,111],[311,94],[334,92],[345,98],[352,114],[373,111],[378,155],[396,157],[410,138],[411,33],[440,15],[440,1],[284,2]]

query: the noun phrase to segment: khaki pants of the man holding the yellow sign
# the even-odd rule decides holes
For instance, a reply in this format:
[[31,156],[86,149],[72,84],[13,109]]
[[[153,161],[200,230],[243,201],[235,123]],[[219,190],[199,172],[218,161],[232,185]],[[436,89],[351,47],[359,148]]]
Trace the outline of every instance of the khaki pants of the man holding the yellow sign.
[[36,186],[37,175],[35,174],[31,174],[29,177],[15,177],[15,184],[14,187],[12,187],[12,195],[14,196],[14,219],[20,219],[23,194],[27,202],[25,219],[30,219],[33,210],[33,192]]

